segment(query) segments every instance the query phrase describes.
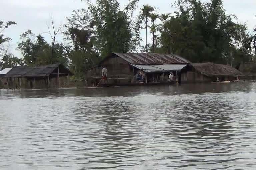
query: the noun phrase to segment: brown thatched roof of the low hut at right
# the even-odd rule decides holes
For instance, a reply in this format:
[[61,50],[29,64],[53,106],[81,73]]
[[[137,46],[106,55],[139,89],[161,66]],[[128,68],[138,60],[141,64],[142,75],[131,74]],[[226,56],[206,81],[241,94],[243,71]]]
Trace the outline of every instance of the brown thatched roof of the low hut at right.
[[231,68],[228,65],[215,64],[211,62],[191,63],[184,67],[182,70],[186,70],[188,68],[193,68],[195,71],[209,77],[242,75],[240,71],[235,68]]

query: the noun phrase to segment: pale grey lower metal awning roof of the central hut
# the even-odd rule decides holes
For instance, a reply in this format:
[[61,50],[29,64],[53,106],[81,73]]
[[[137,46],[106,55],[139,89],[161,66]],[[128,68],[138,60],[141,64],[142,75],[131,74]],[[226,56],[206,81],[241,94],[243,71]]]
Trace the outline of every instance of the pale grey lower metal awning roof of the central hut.
[[175,71],[176,69],[179,71],[183,67],[187,66],[187,64],[161,64],[161,65],[131,64],[131,65],[148,73],[169,72],[169,71]]

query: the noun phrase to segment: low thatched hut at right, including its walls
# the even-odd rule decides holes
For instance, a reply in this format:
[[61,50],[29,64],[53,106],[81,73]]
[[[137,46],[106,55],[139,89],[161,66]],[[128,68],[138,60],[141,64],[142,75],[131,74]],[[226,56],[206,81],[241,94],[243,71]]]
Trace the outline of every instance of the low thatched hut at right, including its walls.
[[240,75],[240,71],[228,65],[210,62],[190,63],[181,70],[181,83],[233,81]]

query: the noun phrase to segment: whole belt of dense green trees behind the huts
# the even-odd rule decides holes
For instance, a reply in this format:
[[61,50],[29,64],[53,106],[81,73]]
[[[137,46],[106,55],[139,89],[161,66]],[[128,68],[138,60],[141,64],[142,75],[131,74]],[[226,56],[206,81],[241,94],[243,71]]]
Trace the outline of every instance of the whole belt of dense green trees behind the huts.
[[[84,1],[88,9],[74,10],[63,27],[52,21],[52,42],[30,30],[20,35],[21,59],[2,45],[11,41],[3,31],[16,23],[0,21],[0,68],[61,62],[83,78],[86,69],[113,51],[177,53],[192,62],[233,66],[254,60],[256,34],[249,33],[236,16],[226,14],[222,0],[178,0],[173,4],[176,12],[163,14],[157,14],[149,4],[138,7],[139,0],[130,0],[124,9],[117,0]],[[141,46],[143,29],[146,45]],[[65,37],[63,42],[56,42],[59,33]]]

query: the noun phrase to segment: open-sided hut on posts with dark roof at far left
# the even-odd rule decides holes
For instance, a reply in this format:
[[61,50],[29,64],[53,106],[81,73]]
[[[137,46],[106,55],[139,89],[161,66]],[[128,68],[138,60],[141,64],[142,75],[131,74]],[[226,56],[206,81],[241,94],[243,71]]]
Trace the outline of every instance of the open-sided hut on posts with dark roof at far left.
[[[20,88],[22,78],[26,79],[27,83],[29,83],[28,86],[30,86],[30,88],[36,88],[36,84],[38,84],[40,88],[45,88],[60,87],[60,77],[68,77],[72,75],[73,73],[69,71],[69,69],[66,68],[63,64],[56,63],[35,67],[15,66],[11,70],[9,70],[8,73],[6,73],[3,77],[6,78],[8,81],[8,88]],[[17,83],[16,85],[13,85],[13,83],[16,82],[15,79],[18,80],[18,85]],[[53,79],[55,79],[55,81]],[[25,88],[26,87],[27,86],[25,85]]]

